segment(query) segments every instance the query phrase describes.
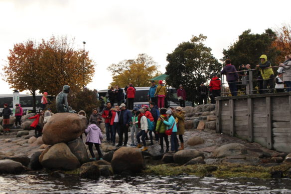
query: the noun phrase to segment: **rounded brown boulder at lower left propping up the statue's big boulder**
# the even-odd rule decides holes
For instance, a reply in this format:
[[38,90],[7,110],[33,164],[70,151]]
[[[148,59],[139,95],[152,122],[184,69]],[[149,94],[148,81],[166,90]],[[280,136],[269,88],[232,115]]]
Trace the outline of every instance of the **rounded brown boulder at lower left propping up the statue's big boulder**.
[[74,170],[80,167],[78,158],[65,143],[48,147],[39,157],[40,164],[47,169]]

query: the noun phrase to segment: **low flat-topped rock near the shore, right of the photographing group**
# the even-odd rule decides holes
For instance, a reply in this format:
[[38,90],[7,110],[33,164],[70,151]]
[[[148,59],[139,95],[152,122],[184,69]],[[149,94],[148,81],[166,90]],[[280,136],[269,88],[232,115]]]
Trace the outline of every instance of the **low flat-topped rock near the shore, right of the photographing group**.
[[173,158],[176,164],[183,165],[187,163],[188,161],[194,158],[197,158],[199,156],[204,158],[203,153],[197,150],[180,150],[174,154]]

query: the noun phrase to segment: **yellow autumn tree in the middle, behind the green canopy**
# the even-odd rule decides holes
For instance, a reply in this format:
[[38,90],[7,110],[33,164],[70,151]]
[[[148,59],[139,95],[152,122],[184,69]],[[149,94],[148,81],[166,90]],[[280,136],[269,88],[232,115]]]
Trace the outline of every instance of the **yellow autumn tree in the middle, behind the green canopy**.
[[132,83],[137,87],[149,86],[149,79],[158,75],[156,62],[146,54],[139,54],[136,59],[111,64],[107,69],[112,72],[111,85],[126,86]]

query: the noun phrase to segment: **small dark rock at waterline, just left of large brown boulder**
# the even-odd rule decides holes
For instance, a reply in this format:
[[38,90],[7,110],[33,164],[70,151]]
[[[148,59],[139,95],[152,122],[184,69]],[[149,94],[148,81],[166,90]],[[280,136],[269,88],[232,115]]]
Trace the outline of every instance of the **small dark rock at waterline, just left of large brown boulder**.
[[98,179],[100,177],[100,171],[97,162],[83,164],[80,167],[79,176],[88,179]]

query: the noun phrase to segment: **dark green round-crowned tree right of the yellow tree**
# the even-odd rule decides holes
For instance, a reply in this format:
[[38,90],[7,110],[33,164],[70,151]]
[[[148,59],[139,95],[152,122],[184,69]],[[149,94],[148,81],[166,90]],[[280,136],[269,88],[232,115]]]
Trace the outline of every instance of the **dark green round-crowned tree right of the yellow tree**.
[[222,65],[211,54],[211,48],[203,42],[207,36],[192,36],[191,41],[182,42],[167,55],[166,82],[178,88],[182,84],[187,93],[187,100],[194,103],[198,99],[198,87],[219,72]]

